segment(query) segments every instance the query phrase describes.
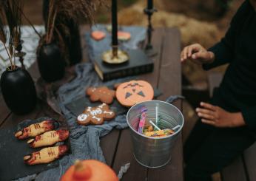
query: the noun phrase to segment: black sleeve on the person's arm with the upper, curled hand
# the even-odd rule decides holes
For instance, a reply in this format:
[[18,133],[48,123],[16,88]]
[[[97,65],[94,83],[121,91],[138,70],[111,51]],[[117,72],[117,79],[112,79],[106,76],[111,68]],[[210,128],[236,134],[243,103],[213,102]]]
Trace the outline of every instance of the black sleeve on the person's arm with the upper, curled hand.
[[244,1],[239,7],[238,12],[232,18],[226,35],[220,40],[220,42],[218,42],[218,44],[209,48],[209,51],[215,54],[215,61],[213,61],[212,64],[203,64],[203,69],[212,69],[216,66],[227,64],[232,61],[235,51],[235,38],[240,31],[240,27],[242,27],[246,14],[250,10],[250,6],[251,4],[249,4],[249,1]]

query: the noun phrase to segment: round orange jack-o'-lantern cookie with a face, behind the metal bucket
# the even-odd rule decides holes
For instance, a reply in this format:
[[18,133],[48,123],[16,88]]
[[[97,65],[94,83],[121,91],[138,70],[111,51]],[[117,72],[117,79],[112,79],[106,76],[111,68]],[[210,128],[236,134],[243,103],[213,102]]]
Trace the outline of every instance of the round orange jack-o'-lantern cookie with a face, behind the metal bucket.
[[135,105],[135,103],[152,100],[154,89],[146,81],[129,81],[118,86],[115,96],[119,103],[129,107]]

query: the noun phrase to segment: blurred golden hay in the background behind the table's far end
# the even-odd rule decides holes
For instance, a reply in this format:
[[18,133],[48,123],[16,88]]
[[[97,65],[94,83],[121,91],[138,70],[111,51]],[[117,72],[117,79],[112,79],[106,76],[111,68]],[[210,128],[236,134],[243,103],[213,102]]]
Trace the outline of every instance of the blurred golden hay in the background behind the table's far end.
[[[161,1],[158,1],[161,4]],[[146,4],[144,1],[131,7],[121,10],[118,13],[120,24],[124,25],[147,25],[147,18],[143,13]],[[162,5],[161,5],[162,6]],[[180,13],[167,13],[159,10],[152,17],[154,27],[178,27],[181,30],[181,43],[183,46],[193,43],[202,44],[204,47],[211,47],[221,37],[218,27],[210,22],[198,21]]]

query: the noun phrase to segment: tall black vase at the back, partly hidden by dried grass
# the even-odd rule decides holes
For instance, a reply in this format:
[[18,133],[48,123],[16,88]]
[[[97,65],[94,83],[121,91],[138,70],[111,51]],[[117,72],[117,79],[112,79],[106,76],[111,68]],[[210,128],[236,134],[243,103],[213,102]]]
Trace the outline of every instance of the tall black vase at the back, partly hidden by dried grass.
[[[47,17],[48,17],[48,7],[49,7],[49,0],[43,1],[43,18],[44,24],[47,26]],[[61,37],[64,40],[64,44],[67,47],[68,54],[69,54],[69,62],[70,65],[77,64],[82,60],[82,51],[81,51],[81,39],[80,39],[80,32],[78,24],[68,17],[56,17],[56,28],[58,32],[61,33]],[[67,30],[64,30],[58,24],[65,24],[69,35],[67,35]]]

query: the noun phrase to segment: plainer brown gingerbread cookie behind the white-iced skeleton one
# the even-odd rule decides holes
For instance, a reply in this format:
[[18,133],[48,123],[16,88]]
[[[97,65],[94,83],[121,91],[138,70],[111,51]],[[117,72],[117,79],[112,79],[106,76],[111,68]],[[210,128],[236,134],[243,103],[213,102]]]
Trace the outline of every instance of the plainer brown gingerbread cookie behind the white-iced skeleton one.
[[107,88],[107,86],[89,87],[86,93],[92,102],[100,100],[102,103],[110,104],[115,98],[115,91]]

